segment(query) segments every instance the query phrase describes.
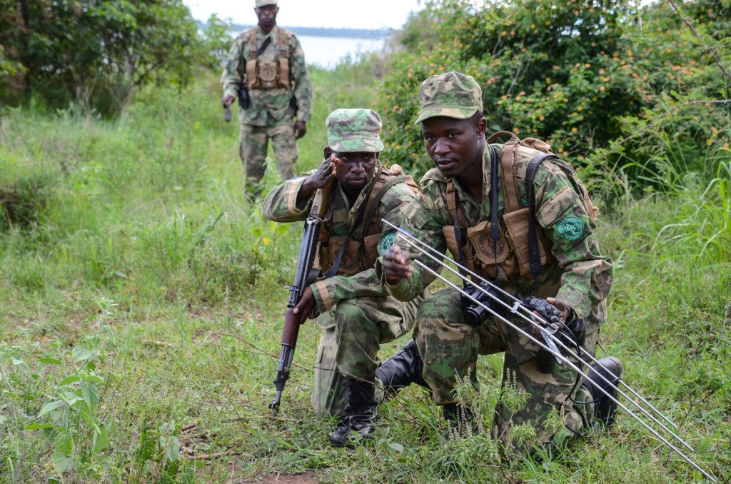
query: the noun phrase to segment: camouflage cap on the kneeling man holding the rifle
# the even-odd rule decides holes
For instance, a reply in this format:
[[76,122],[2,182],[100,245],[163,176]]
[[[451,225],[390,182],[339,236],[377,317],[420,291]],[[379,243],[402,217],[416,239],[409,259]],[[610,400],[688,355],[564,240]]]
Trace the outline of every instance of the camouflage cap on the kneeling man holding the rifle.
[[383,151],[381,116],[370,109],[336,109],[325,121],[327,144],[333,151]]

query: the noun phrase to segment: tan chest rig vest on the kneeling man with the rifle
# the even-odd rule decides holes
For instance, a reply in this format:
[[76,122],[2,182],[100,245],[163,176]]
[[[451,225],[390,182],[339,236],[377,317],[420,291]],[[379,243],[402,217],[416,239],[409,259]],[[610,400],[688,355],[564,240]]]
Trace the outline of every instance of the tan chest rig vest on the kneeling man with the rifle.
[[[353,276],[372,268],[379,257],[381,221],[374,214],[383,196],[395,184],[405,183],[417,192],[417,185],[411,175],[404,175],[398,165],[379,167],[376,181],[368,194],[368,201],[360,205],[349,235],[332,235],[332,213],[320,230],[319,262],[325,277],[334,275]],[[330,205],[332,206],[332,205]]]

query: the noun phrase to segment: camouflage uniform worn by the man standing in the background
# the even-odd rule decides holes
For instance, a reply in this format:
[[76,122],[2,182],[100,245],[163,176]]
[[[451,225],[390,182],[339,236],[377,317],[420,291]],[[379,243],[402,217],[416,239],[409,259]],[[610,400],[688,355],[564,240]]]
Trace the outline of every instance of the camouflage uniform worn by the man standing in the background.
[[[265,3],[274,3],[268,1]],[[257,3],[258,5],[258,3]],[[251,45],[260,47],[265,39],[271,39],[268,47],[258,58],[261,62],[275,62],[279,56],[279,48],[286,48],[289,56],[289,72],[291,83],[289,88],[256,88],[249,89],[251,105],[247,109],[239,106],[238,120],[240,124],[239,156],[243,163],[246,180],[251,186],[257,186],[264,176],[269,139],[277,159],[277,169],[282,180],[295,176],[295,162],[298,149],[295,139],[293,118],[299,121],[310,121],[312,108],[312,87],[307,74],[305,55],[295,35],[286,32],[286,46],[280,46],[279,26],[265,34],[254,28],[240,34],[229,53],[228,61],[221,75],[224,97],[238,96],[240,88],[246,86],[246,61],[251,58]],[[281,29],[284,30],[284,29]],[[297,99],[297,110],[290,105],[292,97]]]

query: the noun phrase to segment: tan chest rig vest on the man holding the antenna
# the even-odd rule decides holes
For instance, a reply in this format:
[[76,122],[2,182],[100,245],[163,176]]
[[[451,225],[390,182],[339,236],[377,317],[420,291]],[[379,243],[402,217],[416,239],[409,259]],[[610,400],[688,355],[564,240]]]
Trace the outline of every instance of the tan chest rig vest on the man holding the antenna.
[[[537,282],[542,267],[556,261],[551,252],[553,242],[545,235],[542,227],[536,223],[533,181],[540,163],[545,159],[553,159],[567,173],[580,196],[591,224],[596,222],[599,210],[591,203],[586,188],[576,177],[574,170],[550,152],[550,145],[535,138],[520,140],[510,132],[497,132],[488,138],[486,149],[491,149],[490,143],[501,135],[511,137],[510,141],[503,146],[499,162],[502,174],[501,190],[505,205],[502,215],[498,215],[498,209],[495,206],[497,196],[494,192],[499,185],[496,181],[498,156],[493,151],[491,156],[491,220],[468,227],[466,216],[459,206],[454,182],[449,179],[447,180],[447,207],[450,210],[452,221],[458,220],[459,230],[455,230],[457,224],[453,224],[442,227],[442,233],[455,260],[459,260],[458,257],[460,257],[458,240],[461,239],[464,262],[471,271],[496,281],[507,281],[519,274],[525,279],[532,278]],[[520,149],[518,149],[519,147]],[[529,161],[526,163],[526,160]],[[525,178],[528,206],[520,204],[518,178]],[[497,230],[495,230],[496,228]]]

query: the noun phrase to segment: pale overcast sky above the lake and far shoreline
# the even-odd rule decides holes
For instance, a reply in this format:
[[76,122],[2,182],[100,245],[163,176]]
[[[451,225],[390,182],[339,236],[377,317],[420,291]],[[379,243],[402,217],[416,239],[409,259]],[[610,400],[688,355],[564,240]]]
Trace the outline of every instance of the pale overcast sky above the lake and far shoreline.
[[[212,13],[233,23],[254,25],[254,0],[183,0],[193,18]],[[401,29],[409,12],[421,10],[420,0],[279,0],[277,23],[289,27],[332,29]]]

